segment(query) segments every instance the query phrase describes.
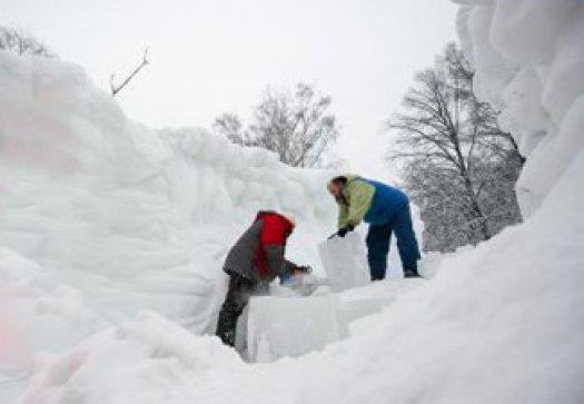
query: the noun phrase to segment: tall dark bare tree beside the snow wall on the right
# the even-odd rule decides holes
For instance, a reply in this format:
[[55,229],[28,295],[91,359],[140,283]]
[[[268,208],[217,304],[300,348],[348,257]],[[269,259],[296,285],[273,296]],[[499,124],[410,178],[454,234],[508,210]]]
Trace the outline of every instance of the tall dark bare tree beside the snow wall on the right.
[[388,122],[398,134],[389,158],[422,208],[427,249],[476,244],[521,220],[513,187],[525,159],[496,111],[474,96],[473,76],[449,45],[416,75],[404,112]]

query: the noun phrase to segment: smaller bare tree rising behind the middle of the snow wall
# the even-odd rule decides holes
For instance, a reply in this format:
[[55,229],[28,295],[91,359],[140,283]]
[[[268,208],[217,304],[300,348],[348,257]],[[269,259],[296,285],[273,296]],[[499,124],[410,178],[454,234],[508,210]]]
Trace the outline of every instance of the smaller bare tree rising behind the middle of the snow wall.
[[328,112],[330,104],[329,96],[317,95],[309,85],[297,85],[294,95],[268,88],[247,129],[232,114],[218,117],[214,128],[235,144],[275,151],[290,166],[318,167],[338,137],[337,120]]

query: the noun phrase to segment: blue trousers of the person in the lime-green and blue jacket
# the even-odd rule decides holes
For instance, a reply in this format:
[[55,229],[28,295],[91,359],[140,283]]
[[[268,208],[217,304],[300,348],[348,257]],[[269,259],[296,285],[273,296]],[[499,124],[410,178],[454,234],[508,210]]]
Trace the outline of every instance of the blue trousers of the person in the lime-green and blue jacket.
[[404,269],[417,270],[417,260],[420,258],[420,255],[412,225],[409,204],[406,204],[392,216],[387,224],[369,226],[366,243],[372,280],[385,278],[392,233],[395,234],[397,239],[397,249]]

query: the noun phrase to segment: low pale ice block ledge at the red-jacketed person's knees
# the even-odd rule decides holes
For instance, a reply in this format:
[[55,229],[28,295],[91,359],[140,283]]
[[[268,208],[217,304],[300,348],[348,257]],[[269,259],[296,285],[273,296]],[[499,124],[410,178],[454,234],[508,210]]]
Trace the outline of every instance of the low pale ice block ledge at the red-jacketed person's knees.
[[250,299],[238,331],[240,338],[245,338],[239,351],[256,363],[323,351],[333,342],[363,333],[363,318],[380,313],[424,283],[424,279],[376,282],[340,293],[330,293],[326,285],[309,296],[273,287],[271,296]]

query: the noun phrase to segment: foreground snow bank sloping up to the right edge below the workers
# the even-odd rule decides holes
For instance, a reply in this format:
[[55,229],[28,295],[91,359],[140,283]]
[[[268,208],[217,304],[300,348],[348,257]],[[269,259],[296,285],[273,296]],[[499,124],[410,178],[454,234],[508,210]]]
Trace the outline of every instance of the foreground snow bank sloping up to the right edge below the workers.
[[[435,279],[358,321],[354,328],[360,334],[321,353],[242,366],[228,355],[215,356],[217,339],[204,347],[208,337],[184,333],[181,347],[172,351],[166,336],[148,339],[146,347],[135,339],[93,339],[75,366],[67,361],[85,345],[39,365],[28,403],[98,404],[103,397],[191,403],[196,397],[212,403],[577,404],[584,396],[584,220],[575,220],[573,211],[584,191],[574,193],[573,186],[583,169],[581,159],[524,225],[445,260]],[[169,327],[165,324],[154,328]],[[140,322],[135,327],[160,335]],[[185,365],[182,349],[190,345],[200,355],[208,351],[215,362],[195,356]],[[169,356],[159,358],[159,349]],[[116,357],[121,363],[112,363]]]

